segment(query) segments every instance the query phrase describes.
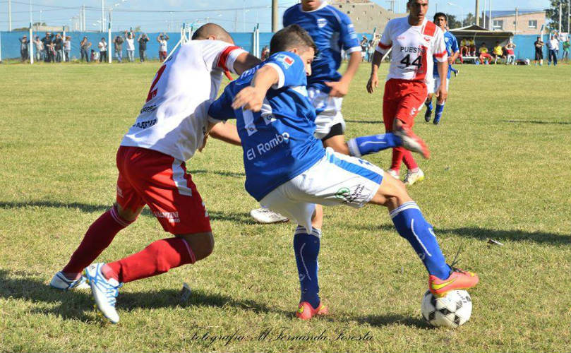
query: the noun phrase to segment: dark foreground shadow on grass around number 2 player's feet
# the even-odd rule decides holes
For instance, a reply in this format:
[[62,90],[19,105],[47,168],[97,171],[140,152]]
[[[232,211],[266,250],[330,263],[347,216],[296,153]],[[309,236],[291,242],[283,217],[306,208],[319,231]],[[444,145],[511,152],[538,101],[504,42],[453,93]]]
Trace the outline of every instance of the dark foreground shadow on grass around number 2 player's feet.
[[[26,278],[25,273],[12,273],[21,277],[11,277],[7,270],[0,269],[0,298],[24,299],[34,303],[44,302],[56,304],[50,309],[33,309],[32,313],[54,314],[66,320],[93,321],[87,315],[92,310],[94,301],[89,290],[64,292],[53,289],[39,280]],[[23,277],[23,278],[22,278]],[[133,309],[159,309],[167,307],[215,306],[219,308],[234,307],[256,313],[279,313],[292,316],[289,311],[270,308],[253,300],[237,300],[222,294],[210,294],[201,290],[193,290],[188,301],[181,303],[181,292],[176,289],[159,289],[146,292],[120,293],[117,298],[117,308],[120,311]]]

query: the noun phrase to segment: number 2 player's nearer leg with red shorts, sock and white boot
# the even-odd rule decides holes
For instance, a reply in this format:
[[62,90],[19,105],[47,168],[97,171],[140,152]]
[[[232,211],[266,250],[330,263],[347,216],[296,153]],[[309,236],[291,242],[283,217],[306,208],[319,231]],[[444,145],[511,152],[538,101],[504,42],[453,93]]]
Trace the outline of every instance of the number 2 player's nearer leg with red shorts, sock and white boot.
[[123,282],[195,263],[210,255],[214,247],[208,212],[184,162],[144,148],[126,150],[129,154],[124,175],[164,231],[174,237],[154,241],[119,261],[85,269],[97,308],[113,323],[119,321],[115,298]]

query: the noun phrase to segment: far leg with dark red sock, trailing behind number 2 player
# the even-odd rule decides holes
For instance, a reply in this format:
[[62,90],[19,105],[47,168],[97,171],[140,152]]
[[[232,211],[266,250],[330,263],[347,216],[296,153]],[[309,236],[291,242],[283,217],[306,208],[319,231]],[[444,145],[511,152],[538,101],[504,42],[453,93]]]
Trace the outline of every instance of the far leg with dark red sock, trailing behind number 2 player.
[[116,160],[119,168],[116,203],[90,225],[68,263],[52,278],[50,285],[54,288],[67,290],[80,286],[83,269],[100,256],[121,229],[128,227],[137,219],[145,206],[145,202],[133,189],[128,178],[121,173],[125,160],[124,149],[119,148]]

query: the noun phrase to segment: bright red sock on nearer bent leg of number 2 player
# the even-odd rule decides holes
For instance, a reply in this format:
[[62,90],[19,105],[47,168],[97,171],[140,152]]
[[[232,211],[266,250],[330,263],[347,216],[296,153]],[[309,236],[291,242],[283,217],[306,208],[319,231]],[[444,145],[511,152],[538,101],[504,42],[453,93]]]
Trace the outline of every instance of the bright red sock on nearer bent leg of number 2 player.
[[195,262],[194,253],[184,239],[169,238],[157,240],[143,251],[107,263],[102,272],[107,278],[114,277],[119,282],[126,283],[160,275],[171,268]]

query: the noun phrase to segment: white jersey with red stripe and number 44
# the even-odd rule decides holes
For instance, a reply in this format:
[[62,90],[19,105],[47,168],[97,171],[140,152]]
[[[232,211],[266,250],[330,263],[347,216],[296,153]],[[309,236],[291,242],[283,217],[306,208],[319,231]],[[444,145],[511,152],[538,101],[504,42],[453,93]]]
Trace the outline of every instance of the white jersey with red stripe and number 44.
[[440,62],[447,61],[444,34],[437,25],[423,20],[421,25],[409,25],[408,17],[394,18],[387,23],[380,38],[377,52],[385,54],[392,47],[387,80],[432,79],[433,56]]

